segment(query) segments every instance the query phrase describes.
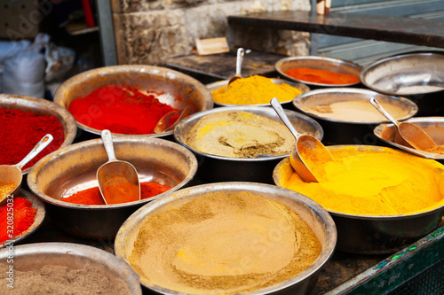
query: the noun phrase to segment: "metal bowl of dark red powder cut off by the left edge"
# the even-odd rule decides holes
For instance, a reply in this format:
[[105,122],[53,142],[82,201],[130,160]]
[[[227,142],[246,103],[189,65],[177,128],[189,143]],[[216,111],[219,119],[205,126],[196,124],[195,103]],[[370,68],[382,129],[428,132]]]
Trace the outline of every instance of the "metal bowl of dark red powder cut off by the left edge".
[[51,134],[52,143],[22,168],[27,174],[39,159],[72,144],[76,131],[74,117],[59,105],[43,98],[0,94],[0,165],[19,163],[43,136]]

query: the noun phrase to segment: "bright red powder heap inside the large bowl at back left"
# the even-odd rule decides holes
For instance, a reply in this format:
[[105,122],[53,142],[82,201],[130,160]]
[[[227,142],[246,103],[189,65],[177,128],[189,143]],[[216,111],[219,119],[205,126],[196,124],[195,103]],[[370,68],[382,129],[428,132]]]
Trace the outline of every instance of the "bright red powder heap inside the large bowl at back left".
[[[175,111],[156,98],[130,87],[105,86],[86,97],[76,98],[68,107],[75,120],[91,128],[120,134],[153,134],[155,124],[165,113]],[[178,115],[170,118],[170,125]],[[169,125],[169,126],[170,126]]]

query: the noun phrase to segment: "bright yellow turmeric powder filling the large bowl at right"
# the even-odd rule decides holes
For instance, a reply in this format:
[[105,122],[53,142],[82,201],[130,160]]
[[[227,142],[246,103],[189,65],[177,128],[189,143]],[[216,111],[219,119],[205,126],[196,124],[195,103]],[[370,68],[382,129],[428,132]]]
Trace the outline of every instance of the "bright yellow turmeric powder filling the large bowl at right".
[[322,172],[319,183],[303,182],[287,160],[280,185],[337,213],[399,215],[444,206],[444,166],[437,161],[390,148],[329,150],[336,162],[311,167]]

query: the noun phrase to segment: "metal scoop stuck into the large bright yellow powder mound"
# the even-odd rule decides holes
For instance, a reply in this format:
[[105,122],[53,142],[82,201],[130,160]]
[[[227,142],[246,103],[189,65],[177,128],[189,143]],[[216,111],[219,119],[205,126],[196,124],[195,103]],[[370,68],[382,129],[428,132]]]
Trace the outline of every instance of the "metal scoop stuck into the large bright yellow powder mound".
[[329,161],[335,161],[335,158],[331,155],[325,145],[314,136],[302,135],[296,131],[289,118],[284,113],[279,100],[274,97],[270,104],[273,106],[274,111],[281,118],[282,122],[289,128],[289,131],[295,136],[296,144],[291,150],[289,155],[289,162],[291,167],[295,169],[297,174],[305,182],[319,182],[318,177],[313,175],[310,167],[313,167],[316,163],[325,163]]

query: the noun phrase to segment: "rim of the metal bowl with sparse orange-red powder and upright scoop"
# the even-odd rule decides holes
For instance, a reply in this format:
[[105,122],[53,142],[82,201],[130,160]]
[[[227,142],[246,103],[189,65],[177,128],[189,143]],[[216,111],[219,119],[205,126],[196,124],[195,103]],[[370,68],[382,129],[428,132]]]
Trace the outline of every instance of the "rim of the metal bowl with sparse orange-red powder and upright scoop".
[[90,146],[99,145],[99,144],[103,143],[101,138],[96,138],[96,139],[83,141],[83,142],[77,143],[77,144],[71,144],[67,147],[64,147],[64,148],[58,150],[58,151],[53,151],[52,153],[48,154],[44,158],[37,161],[36,165],[34,167],[32,167],[31,171],[28,174],[27,181],[28,181],[29,190],[31,190],[36,195],[37,198],[42,199],[44,201],[44,203],[47,203],[47,204],[50,204],[53,206],[59,206],[59,207],[64,207],[64,208],[68,208],[68,209],[75,209],[75,210],[117,209],[117,208],[126,208],[126,207],[131,207],[131,206],[145,205],[146,203],[149,203],[149,202],[155,200],[156,198],[161,198],[169,191],[178,190],[181,187],[185,186],[186,183],[191,182],[194,178],[194,175],[197,172],[197,159],[195,158],[193,152],[189,151],[188,149],[186,149],[186,147],[184,147],[180,144],[173,143],[171,141],[168,141],[168,140],[165,140],[162,138],[155,138],[155,137],[149,137],[149,136],[146,136],[146,137],[115,136],[113,138],[113,142],[114,142],[114,144],[118,144],[120,142],[123,142],[123,143],[125,143],[125,142],[137,142],[137,143],[145,142],[146,144],[169,146],[172,149],[180,151],[182,154],[184,154],[186,156],[186,158],[188,159],[189,164],[190,164],[190,171],[188,172],[186,177],[181,182],[179,182],[176,186],[170,188],[170,190],[167,190],[167,191],[165,191],[161,194],[158,194],[154,197],[151,197],[151,198],[140,199],[139,201],[122,203],[122,204],[83,205],[83,204],[68,203],[68,202],[64,202],[64,201],[60,201],[58,199],[52,198],[52,197],[46,195],[42,190],[40,190],[40,188],[36,184],[37,183],[36,179],[37,179],[38,173],[44,169],[45,163],[51,162],[54,159],[58,159],[59,156],[61,156],[63,154],[67,154],[67,153],[70,153],[70,152],[73,152],[76,150],[85,149]]

